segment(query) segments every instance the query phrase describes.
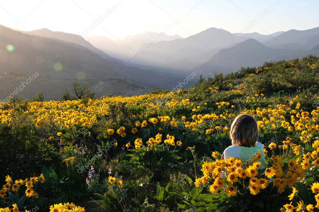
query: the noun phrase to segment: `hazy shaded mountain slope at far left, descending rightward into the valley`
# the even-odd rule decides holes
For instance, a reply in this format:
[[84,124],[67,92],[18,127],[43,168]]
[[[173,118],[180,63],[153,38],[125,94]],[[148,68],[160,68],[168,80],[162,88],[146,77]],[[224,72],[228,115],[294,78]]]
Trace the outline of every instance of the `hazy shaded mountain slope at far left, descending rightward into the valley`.
[[[77,35],[40,30],[37,37],[10,28],[0,26],[0,46],[5,49],[7,44],[15,47],[14,51],[0,51],[0,72],[11,75],[27,76],[38,71],[40,78],[48,79],[99,79],[108,76],[120,77],[145,85],[167,86],[167,80],[151,70],[126,66],[116,60],[102,58],[90,49],[80,45],[93,47],[89,42],[80,39],[73,43]],[[72,40],[63,41],[64,40]],[[78,39],[77,39],[78,40]],[[93,47],[95,48],[95,47]],[[100,51],[97,49],[97,51]],[[104,53],[105,54],[105,53]],[[105,54],[107,55],[107,54]],[[107,55],[108,56],[108,55]],[[108,56],[109,57],[109,56]],[[137,76],[145,76],[138,79]]]

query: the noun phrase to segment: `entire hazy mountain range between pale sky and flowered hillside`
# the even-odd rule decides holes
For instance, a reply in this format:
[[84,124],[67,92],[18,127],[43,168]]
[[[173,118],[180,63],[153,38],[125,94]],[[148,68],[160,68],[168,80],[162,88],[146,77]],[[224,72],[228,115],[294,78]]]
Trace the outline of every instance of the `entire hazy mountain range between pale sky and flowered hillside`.
[[[208,77],[235,72],[241,66],[257,67],[265,61],[319,55],[319,27],[270,35],[212,27],[187,38],[146,32],[110,39],[82,38],[46,28],[16,31],[0,25],[0,36],[0,81],[10,78],[12,85],[38,72],[50,87],[59,86],[59,80],[76,79],[100,80],[98,84],[104,87],[101,80],[108,78],[112,79],[108,86],[127,83],[121,89],[134,83],[136,88],[170,89],[189,72]],[[196,79],[187,86],[194,83]]]

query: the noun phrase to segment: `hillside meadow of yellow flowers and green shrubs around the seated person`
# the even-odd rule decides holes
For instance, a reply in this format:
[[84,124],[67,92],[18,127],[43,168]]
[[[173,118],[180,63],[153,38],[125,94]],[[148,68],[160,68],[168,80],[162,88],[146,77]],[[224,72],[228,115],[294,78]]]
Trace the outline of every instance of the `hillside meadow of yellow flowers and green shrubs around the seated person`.
[[[319,58],[188,90],[0,105],[0,211],[317,211]],[[266,168],[221,160],[240,113]]]

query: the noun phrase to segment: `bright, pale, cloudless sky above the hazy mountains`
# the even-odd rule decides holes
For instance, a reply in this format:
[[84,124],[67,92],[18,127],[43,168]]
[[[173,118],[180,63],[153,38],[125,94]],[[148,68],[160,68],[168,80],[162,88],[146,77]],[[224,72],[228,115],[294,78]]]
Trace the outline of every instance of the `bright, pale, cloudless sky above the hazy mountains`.
[[[268,12],[264,12],[268,10]],[[105,14],[104,20],[99,15]],[[257,18],[259,17],[259,18]],[[250,21],[258,19],[258,24]],[[21,20],[21,21],[20,21]],[[194,35],[210,27],[271,34],[319,26],[316,0],[10,0],[0,24],[30,31],[48,28],[85,36],[124,38],[146,31]],[[98,23],[98,24],[93,24]],[[94,28],[90,28],[90,25]],[[248,28],[247,28],[248,27]]]

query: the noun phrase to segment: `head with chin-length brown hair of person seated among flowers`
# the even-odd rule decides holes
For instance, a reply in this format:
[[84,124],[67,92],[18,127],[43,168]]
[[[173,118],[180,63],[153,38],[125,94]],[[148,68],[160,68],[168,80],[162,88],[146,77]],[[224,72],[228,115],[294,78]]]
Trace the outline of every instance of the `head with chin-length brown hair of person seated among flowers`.
[[230,138],[235,146],[255,147],[259,138],[256,119],[248,114],[238,115],[230,127]]

